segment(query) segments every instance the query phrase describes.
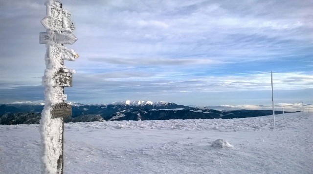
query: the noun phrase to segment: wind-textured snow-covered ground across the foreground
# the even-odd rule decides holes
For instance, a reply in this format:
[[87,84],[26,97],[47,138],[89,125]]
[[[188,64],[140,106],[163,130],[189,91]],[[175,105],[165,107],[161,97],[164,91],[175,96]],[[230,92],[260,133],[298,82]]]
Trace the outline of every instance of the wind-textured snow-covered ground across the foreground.
[[[65,174],[313,174],[313,113],[272,120],[66,123]],[[39,125],[0,125],[1,174],[39,174],[40,156]]]

